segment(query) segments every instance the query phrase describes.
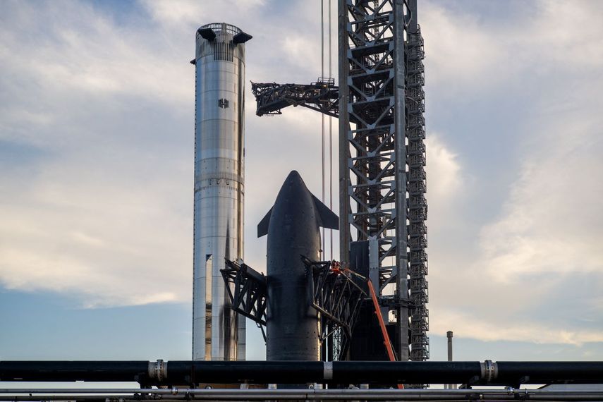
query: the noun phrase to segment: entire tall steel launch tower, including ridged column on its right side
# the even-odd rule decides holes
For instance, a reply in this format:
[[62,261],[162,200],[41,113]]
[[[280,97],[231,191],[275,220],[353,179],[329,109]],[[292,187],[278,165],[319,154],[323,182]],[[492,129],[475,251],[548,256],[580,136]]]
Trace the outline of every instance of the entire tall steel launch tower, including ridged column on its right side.
[[416,10],[416,0],[339,3],[340,252],[344,259],[352,241],[368,240],[370,277],[394,312],[398,360],[429,358]]

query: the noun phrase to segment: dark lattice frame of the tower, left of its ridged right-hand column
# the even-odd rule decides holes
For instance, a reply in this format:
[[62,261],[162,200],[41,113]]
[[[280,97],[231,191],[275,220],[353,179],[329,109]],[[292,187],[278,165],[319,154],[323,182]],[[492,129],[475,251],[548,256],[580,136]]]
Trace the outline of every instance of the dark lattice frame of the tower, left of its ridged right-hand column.
[[379,303],[394,312],[389,324],[396,329],[396,355],[406,361],[411,357],[405,61],[409,8],[404,0],[346,0],[339,7],[339,216],[347,219],[340,225],[341,259],[348,258],[344,244],[367,240],[368,275],[377,286]]

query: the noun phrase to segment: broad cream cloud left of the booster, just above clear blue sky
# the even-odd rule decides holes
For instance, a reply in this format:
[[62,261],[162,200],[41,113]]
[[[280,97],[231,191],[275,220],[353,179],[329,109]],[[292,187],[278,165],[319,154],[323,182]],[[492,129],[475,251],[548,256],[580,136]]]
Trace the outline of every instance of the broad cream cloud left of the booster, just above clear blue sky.
[[99,181],[63,171],[78,169],[72,161],[61,165],[46,164],[1,204],[1,283],[68,293],[87,306],[186,302],[190,223],[170,205],[180,183],[160,175],[138,185],[132,176]]

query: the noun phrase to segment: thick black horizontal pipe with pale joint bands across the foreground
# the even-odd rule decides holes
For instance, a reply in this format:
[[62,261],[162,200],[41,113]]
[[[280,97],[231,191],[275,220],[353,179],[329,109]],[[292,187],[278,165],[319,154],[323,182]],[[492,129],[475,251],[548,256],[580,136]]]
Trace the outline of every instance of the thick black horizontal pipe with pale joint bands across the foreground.
[[0,381],[599,384],[603,382],[603,362],[0,361]]

